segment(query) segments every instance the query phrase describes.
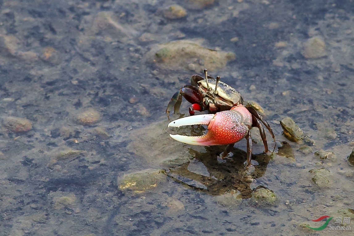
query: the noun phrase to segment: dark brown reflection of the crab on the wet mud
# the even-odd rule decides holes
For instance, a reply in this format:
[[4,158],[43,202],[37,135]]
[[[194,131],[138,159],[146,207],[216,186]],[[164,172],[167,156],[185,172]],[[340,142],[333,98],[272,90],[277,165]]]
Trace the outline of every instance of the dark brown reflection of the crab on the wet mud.
[[[247,156],[245,151],[234,148],[231,151],[232,157],[221,162],[218,156],[223,148],[224,146],[206,147],[206,152],[189,149],[190,155],[195,159],[170,168],[167,175],[187,188],[209,195],[222,195],[230,190],[238,190],[242,198],[250,198],[254,190],[250,186],[253,179],[264,175],[272,155],[270,153],[252,155],[252,160],[258,162],[258,165],[245,168],[244,162]],[[200,165],[198,162],[205,166],[207,173],[200,174],[190,170],[191,163]]]

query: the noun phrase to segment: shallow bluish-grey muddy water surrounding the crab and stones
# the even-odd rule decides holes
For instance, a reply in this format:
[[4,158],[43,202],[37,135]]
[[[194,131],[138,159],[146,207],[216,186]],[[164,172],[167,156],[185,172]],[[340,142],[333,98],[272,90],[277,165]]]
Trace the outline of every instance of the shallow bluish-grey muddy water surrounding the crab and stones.
[[[303,226],[354,208],[353,2],[14,0],[0,9],[0,235],[333,235],[335,219],[321,232]],[[192,42],[187,52],[181,40]],[[169,130],[165,109],[206,65],[261,104],[278,144],[289,144],[272,158],[254,144],[248,182],[245,140],[218,162],[222,148],[168,136],[202,132]],[[282,136],[285,117],[315,145]],[[152,188],[119,188],[125,174],[161,168],[169,176]],[[313,182],[316,168],[330,172],[327,185]],[[276,201],[252,202],[258,186]]]

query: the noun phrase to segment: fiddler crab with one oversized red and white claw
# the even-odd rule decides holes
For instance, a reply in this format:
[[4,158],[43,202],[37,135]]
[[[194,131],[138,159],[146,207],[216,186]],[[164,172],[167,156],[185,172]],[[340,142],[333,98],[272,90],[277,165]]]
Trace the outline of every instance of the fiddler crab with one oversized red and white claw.
[[[208,76],[204,70],[205,78],[193,75],[191,85],[185,85],[173,94],[166,108],[167,117],[173,108],[179,113],[182,97],[192,103],[189,107],[190,116],[174,120],[169,127],[181,127],[187,125],[207,125],[208,132],[202,136],[184,136],[170,134],[171,138],[192,145],[227,145],[221,158],[227,157],[235,143],[242,138],[247,140],[247,166],[251,165],[252,139],[250,129],[257,127],[264,145],[264,152],[268,152],[267,137],[263,125],[268,129],[275,142],[274,133],[267,121],[257,111],[243,105],[241,94],[234,88],[220,81],[217,76],[214,79]],[[210,114],[194,115],[195,111],[207,110]],[[262,125],[263,123],[263,125]]]

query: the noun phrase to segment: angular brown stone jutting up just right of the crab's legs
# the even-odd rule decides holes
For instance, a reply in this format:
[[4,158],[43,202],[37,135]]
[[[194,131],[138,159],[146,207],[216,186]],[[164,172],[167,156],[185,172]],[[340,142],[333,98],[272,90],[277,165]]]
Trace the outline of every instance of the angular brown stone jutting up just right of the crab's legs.
[[310,137],[304,133],[300,127],[290,118],[286,117],[280,121],[283,135],[292,142],[303,141],[308,145],[313,145],[314,142]]

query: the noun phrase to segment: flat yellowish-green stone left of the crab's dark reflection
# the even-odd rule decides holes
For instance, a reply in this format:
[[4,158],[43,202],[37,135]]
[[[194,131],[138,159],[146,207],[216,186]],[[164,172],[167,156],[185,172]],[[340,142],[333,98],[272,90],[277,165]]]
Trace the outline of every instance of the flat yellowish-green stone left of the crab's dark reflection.
[[146,169],[142,172],[126,174],[117,179],[118,189],[122,191],[144,192],[155,188],[166,181],[165,171],[162,169]]

